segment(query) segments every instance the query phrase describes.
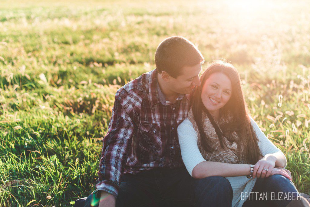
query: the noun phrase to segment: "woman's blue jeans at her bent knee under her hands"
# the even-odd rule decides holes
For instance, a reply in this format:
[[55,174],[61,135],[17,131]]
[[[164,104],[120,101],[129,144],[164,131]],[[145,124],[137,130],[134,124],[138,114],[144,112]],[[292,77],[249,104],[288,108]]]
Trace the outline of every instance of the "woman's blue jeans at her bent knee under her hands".
[[299,193],[294,183],[280,174],[257,178],[252,194],[242,207],[286,206]]

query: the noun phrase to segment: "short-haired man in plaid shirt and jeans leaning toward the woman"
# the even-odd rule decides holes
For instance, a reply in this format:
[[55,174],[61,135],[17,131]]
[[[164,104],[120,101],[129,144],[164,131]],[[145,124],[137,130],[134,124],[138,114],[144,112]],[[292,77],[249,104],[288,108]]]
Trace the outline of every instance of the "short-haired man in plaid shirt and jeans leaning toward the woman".
[[156,69],[117,91],[97,190],[75,206],[231,206],[226,178],[188,174],[177,137],[203,62],[193,43],[169,37],[157,47]]

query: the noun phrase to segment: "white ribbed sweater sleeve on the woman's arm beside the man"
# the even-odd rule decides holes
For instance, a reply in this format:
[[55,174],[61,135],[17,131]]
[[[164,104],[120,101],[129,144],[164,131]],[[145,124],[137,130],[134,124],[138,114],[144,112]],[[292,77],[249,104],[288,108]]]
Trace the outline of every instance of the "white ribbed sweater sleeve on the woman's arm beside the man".
[[188,118],[178,126],[178,137],[184,165],[188,173],[193,176],[194,167],[206,160],[199,151],[197,132]]

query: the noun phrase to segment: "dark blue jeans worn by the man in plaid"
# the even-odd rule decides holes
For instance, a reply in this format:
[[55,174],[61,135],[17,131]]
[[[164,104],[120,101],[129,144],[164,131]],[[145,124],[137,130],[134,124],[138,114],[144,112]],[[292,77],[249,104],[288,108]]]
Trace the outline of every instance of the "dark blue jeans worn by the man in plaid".
[[[98,206],[95,191],[74,206]],[[93,205],[92,205],[93,204]],[[185,168],[154,169],[124,174],[116,206],[231,206],[232,187],[226,178],[194,179]]]

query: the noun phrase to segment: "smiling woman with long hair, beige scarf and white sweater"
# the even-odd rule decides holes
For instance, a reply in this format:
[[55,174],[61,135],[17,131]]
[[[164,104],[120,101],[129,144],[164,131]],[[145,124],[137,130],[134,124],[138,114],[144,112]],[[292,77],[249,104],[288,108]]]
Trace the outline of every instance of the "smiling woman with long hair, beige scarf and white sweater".
[[[290,172],[282,169],[286,157],[248,115],[236,68],[216,61],[200,80],[188,117],[178,127],[188,172],[197,179],[226,177],[233,190],[232,206],[262,205],[267,199],[269,205],[273,200],[286,206],[296,199]],[[292,196],[283,200],[283,193]]]

